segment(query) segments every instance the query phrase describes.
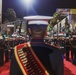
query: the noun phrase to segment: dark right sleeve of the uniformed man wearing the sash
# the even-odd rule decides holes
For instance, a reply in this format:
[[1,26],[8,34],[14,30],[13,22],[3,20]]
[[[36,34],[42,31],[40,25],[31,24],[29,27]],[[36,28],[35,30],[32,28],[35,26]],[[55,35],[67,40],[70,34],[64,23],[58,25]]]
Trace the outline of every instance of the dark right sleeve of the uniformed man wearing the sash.
[[52,69],[56,75],[64,75],[63,59],[60,51],[53,52],[49,55],[52,64]]

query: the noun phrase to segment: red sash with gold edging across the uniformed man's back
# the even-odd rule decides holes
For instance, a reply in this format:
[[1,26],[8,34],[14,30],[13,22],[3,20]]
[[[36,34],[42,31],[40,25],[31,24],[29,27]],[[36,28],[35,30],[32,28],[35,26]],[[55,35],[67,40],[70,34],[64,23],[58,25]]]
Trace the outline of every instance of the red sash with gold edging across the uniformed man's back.
[[[25,52],[22,50],[24,47],[26,49]],[[29,42],[16,46],[14,53],[23,75],[49,75]]]

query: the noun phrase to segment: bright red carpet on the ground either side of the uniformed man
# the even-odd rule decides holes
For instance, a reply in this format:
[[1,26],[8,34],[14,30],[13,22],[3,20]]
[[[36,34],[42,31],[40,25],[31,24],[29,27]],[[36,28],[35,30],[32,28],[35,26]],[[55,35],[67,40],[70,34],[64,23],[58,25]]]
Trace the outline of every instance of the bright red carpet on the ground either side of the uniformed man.
[[[10,62],[0,67],[0,75],[9,75]],[[76,75],[76,66],[64,59],[64,75]]]

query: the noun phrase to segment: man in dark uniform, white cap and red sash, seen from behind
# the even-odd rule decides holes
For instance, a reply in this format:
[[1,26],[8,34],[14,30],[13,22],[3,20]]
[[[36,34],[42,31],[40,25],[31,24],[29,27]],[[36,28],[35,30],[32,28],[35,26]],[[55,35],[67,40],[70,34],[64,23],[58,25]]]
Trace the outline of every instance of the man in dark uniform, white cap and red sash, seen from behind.
[[[34,67],[34,63],[31,63],[34,60],[31,58],[32,56],[30,57],[29,55],[31,53],[28,53],[29,50],[27,43],[23,43],[15,47],[11,60],[10,75],[63,75],[64,70],[61,52],[58,48],[44,43],[44,36],[48,22],[41,16],[39,17],[40,18],[33,17],[32,21],[28,22],[28,28],[31,34],[29,49],[37,60],[37,63],[42,67],[41,71],[43,70],[43,73],[38,71],[38,68],[36,68],[37,66]],[[22,48],[22,46],[25,48]],[[27,60],[22,59],[23,57],[21,57],[22,62],[19,56],[22,56],[23,54],[19,55],[18,53],[24,53],[25,56],[23,57],[27,57]],[[28,63],[24,65],[23,63],[26,62]],[[28,65],[29,63],[31,63],[31,65]],[[31,70],[28,69],[29,67]]]

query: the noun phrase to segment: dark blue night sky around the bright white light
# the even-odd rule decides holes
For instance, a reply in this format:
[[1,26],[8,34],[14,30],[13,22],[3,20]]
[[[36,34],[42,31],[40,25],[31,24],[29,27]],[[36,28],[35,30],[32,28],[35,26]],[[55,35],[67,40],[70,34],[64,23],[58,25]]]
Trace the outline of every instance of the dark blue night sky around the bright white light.
[[13,8],[19,18],[30,15],[52,16],[57,8],[76,8],[76,2],[75,0],[35,0],[32,7],[27,10],[21,0],[3,0],[2,13],[4,14],[8,8]]

